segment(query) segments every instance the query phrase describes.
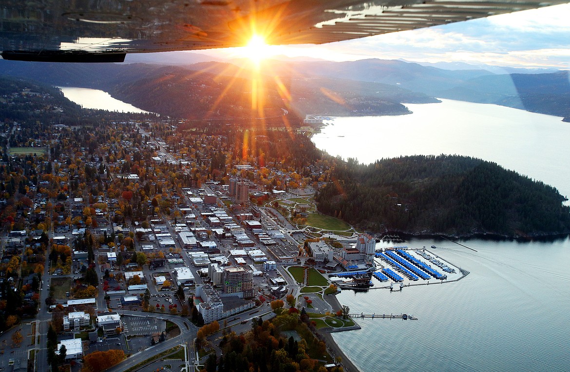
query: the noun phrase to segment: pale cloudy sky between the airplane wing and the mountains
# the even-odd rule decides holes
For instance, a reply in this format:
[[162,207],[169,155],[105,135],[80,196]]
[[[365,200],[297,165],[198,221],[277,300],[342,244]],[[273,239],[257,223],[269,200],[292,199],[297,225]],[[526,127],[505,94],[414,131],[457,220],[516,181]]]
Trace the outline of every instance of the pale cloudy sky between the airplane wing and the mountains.
[[[245,56],[241,48],[204,53]],[[570,3],[320,46],[272,46],[267,54],[570,70]]]

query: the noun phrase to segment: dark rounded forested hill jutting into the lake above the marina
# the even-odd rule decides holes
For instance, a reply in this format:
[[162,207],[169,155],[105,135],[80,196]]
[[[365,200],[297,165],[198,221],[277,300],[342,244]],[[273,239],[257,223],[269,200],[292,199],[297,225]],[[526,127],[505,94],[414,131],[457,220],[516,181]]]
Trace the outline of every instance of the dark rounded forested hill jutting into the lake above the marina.
[[320,212],[372,231],[471,236],[570,232],[564,197],[495,163],[408,156],[364,165],[349,159],[317,195]]

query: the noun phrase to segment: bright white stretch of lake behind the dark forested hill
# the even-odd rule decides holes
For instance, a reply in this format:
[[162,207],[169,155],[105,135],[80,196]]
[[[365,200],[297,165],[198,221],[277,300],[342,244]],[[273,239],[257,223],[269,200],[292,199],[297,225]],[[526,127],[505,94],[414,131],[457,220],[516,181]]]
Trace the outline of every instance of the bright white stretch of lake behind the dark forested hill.
[[401,155],[466,155],[494,161],[570,197],[570,123],[494,104],[408,104],[413,114],[335,118],[312,138],[333,156],[372,163]]

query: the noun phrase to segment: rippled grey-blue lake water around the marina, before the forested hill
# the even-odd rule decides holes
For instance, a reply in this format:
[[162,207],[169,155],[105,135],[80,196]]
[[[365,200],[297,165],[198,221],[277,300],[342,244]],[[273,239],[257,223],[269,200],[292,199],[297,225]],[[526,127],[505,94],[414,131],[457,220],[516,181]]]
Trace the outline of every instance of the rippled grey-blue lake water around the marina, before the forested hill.
[[355,293],[351,313],[406,313],[417,321],[357,319],[333,333],[363,372],[569,371],[570,241],[410,240],[469,270],[458,282]]

